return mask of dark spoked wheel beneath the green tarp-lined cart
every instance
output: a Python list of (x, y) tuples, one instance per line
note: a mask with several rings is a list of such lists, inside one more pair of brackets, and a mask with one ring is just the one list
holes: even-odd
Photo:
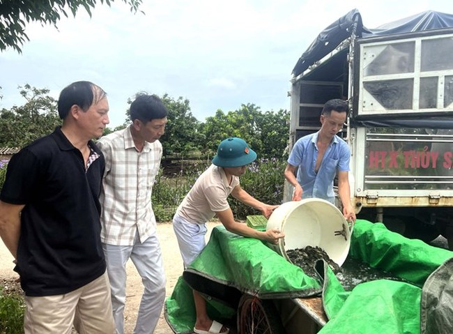
[(238, 307), (238, 333), (284, 334), (286, 332), (272, 301), (243, 294)]

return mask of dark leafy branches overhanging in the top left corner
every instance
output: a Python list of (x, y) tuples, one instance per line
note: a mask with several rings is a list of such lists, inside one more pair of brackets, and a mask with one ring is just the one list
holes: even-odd
[[(115, 0), (100, 0), (100, 3), (110, 3)], [(130, 11), (136, 13), (142, 0), (121, 0), (130, 5)], [(20, 46), (29, 37), (26, 36), (26, 23), (40, 22), (40, 24), (53, 24), (61, 19), (61, 14), (68, 17), (70, 10), (73, 16), (80, 7), (91, 16), (91, 9), (95, 7), (96, 0), (1, 0), (0, 1), (0, 50), (13, 47), (17, 52), (22, 52)]]

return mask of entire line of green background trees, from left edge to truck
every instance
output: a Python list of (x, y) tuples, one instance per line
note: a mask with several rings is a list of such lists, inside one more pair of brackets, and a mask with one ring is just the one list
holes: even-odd
[[(29, 84), (19, 88), (25, 105), (0, 109), (0, 147), (22, 148), (61, 124), (56, 100), (48, 96), (48, 89), (37, 89)], [(128, 103), (133, 99), (130, 98)], [(259, 107), (247, 103), (227, 114), (219, 109), (215, 116), (201, 123), (192, 115), (189, 100), (164, 94), (162, 101), (169, 110), (169, 122), (161, 138), (164, 156), (212, 158), (218, 144), (227, 137), (245, 139), (259, 158), (284, 158), (287, 155), (289, 112), (286, 110), (261, 112)], [(129, 110), (125, 114), (127, 118), (121, 126), (105, 128), (103, 135), (129, 126)]]

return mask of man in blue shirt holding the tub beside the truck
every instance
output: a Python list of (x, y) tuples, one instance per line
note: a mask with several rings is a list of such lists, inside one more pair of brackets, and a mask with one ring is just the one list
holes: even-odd
[(351, 151), (348, 144), (337, 136), (347, 116), (346, 101), (328, 100), (321, 112), (321, 129), (295, 142), (284, 176), (294, 187), (293, 201), (317, 197), (334, 204), (333, 180), (338, 172), (338, 194), (344, 217), (355, 221), (348, 181)]

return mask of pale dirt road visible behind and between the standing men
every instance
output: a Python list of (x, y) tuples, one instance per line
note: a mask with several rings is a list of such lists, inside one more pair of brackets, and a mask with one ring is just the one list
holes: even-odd
[[(208, 234), (206, 234), (206, 241), (210, 236), (210, 231), (213, 227), (219, 225), (219, 222), (208, 222)], [(178, 242), (174, 235), (173, 227), (169, 223), (158, 224), (158, 236), (162, 253), (164, 257), (165, 275), (167, 275), (167, 297), (171, 295), (173, 288), (181, 273), (183, 273), (183, 260), (179, 253)], [(8, 249), (0, 241), (0, 278), (17, 278), (17, 274), (13, 271), (13, 256), (10, 255)], [(125, 306), (125, 333), (132, 333), (137, 319), (137, 310), (140, 304), (141, 292), (143, 286), (141, 285), (140, 276), (135, 270), (132, 261), (128, 261), (128, 282), (126, 288), (126, 306)], [(155, 334), (171, 334), (173, 331), (169, 328), (167, 321), (165, 321), (164, 314), (160, 315), (158, 327)]]

